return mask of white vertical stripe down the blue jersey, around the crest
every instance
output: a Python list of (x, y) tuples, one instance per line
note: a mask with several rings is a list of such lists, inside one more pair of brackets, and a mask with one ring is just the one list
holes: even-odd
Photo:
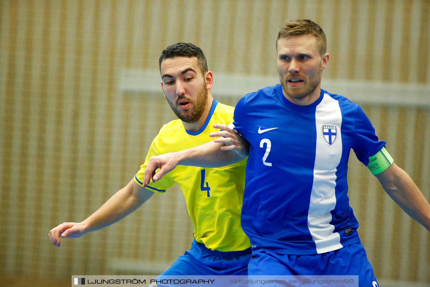
[[(336, 205), (336, 171), (342, 156), (342, 114), (337, 100), (324, 94), (322, 101), (316, 106), (315, 124), (316, 155), (307, 227), (319, 254), (343, 247), (339, 233), (334, 233), (335, 226), (330, 224), (331, 211)], [(336, 126), (336, 138), (332, 145), (324, 139), (324, 125)]]

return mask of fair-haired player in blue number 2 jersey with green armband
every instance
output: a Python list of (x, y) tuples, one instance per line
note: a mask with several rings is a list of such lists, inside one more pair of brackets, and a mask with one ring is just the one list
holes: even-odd
[(241, 216), (252, 244), (249, 275), (359, 275), (360, 287), (377, 287), (347, 197), (351, 148), (427, 230), (430, 206), (362, 109), (320, 88), (330, 57), (322, 28), (287, 20), (276, 49), (280, 84), (240, 99), (230, 127), (214, 125), (221, 131), (213, 142), (152, 158), (144, 184), (177, 164), (215, 167), (249, 155)]

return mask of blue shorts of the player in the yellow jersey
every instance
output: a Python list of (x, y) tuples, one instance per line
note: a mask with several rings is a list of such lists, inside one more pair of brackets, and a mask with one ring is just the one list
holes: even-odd
[(191, 248), (160, 275), (248, 275), (251, 248), (222, 252), (193, 241)]

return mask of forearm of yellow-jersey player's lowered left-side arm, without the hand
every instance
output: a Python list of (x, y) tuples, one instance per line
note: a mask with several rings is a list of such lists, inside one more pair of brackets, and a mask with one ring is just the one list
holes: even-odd
[[(135, 183), (133, 182), (133, 184)], [(146, 201), (145, 198), (138, 196), (135, 188), (129, 185), (117, 191), (98, 210), (82, 222), (85, 225), (86, 233), (120, 221)]]

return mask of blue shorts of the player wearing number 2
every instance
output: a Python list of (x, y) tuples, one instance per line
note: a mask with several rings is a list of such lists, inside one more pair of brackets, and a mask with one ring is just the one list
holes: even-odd
[(249, 275), (358, 275), (359, 287), (378, 287), (363, 245), (314, 255), (278, 254), (260, 251), (252, 254)]

